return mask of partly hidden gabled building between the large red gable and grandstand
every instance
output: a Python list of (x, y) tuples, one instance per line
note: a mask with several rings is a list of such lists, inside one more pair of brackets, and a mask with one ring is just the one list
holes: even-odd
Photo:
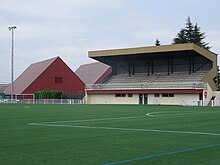
[(111, 73), (111, 67), (101, 62), (95, 62), (81, 65), (75, 73), (85, 84), (95, 84)]

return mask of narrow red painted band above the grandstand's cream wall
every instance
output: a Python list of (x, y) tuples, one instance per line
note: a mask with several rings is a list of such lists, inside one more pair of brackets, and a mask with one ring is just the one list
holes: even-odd
[(156, 93), (174, 93), (174, 94), (200, 94), (202, 89), (146, 89), (146, 90), (92, 90), (86, 91), (87, 94), (156, 94)]

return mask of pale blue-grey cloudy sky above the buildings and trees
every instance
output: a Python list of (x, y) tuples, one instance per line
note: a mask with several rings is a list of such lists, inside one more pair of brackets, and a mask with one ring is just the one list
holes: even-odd
[(156, 38), (170, 44), (188, 16), (219, 54), (219, 0), (0, 0), (0, 83), (11, 81), (8, 26), (17, 26), (17, 78), (30, 64), (56, 56), (75, 71), (94, 62), (89, 50), (152, 46)]

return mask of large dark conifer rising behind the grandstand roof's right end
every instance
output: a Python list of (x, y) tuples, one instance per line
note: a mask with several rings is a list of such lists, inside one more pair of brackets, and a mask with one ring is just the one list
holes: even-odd
[(173, 39), (173, 44), (194, 43), (209, 50), (210, 46), (208, 46), (209, 43), (204, 42), (205, 38), (205, 33), (201, 32), (201, 27), (198, 26), (198, 23), (193, 25), (190, 17), (188, 17), (185, 28), (181, 29), (177, 37)]

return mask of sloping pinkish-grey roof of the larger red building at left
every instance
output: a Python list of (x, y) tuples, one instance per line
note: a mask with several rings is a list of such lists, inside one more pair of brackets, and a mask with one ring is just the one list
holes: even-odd
[[(40, 76), (57, 58), (51, 58), (31, 64), (15, 81), (14, 94), (20, 95), (33, 81)], [(5, 89), (5, 94), (11, 93), (11, 85)]]

